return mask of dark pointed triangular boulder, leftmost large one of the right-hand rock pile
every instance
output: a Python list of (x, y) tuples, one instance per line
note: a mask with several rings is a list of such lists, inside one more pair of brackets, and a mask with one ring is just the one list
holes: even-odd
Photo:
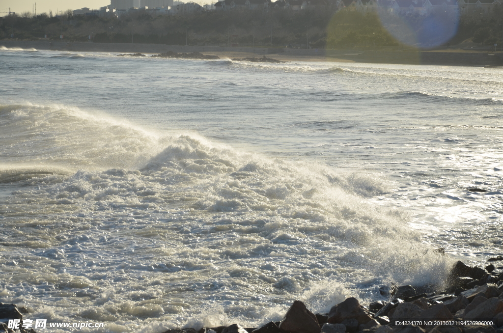
[(279, 328), (292, 333), (319, 333), (321, 327), (316, 316), (301, 301), (294, 301)]

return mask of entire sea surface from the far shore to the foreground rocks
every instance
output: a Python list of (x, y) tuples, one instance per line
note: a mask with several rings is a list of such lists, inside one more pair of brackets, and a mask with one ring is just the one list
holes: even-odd
[(0, 301), (27, 318), (253, 327), (502, 252), (503, 69), (3, 47), (0, 77)]

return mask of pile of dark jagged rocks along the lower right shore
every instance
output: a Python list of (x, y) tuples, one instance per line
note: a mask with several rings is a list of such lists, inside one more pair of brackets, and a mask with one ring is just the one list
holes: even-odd
[(503, 272), (497, 270), (503, 267), (484, 270), (457, 262), (443, 292), (434, 286), (382, 287), (390, 301), (364, 306), (350, 297), (316, 314), (294, 301), (281, 321), (257, 328), (234, 323), (164, 333), (503, 333)]

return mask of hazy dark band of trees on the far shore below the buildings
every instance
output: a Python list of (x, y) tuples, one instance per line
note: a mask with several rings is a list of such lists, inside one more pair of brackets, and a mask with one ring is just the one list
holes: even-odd
[[(427, 29), (432, 25), (452, 31), (441, 39), (438, 31)], [(79, 42), (90, 41), (91, 36), (91, 41), (97, 43), (389, 49), (400, 42), (428, 48), (467, 39), (492, 45), (501, 41), (502, 29), (503, 6), (495, 6), (489, 13), (459, 15), (439, 11), (427, 17), (396, 16), (387, 11), (337, 11), (335, 7), (302, 11), (207, 11), (157, 17), (139, 11), (122, 19), (73, 17), (68, 10), (58, 17), (52, 13), (32, 16), (29, 12), (6, 16), (0, 25), (0, 39), (14, 35), (18, 40), (38, 40), (44, 36), (59, 40), (63, 35), (65, 41)]]

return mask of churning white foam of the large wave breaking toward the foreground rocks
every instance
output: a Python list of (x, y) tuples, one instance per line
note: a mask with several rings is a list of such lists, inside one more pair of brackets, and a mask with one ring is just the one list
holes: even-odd
[[(233, 317), (253, 325), (278, 319), (295, 298), (326, 311), (350, 294), (378, 297), (382, 283), (441, 284), (448, 270), (449, 260), (428, 251), (406, 215), (365, 199), (387, 191), (369, 175), (238, 152), (193, 134), (152, 133), (64, 106), (9, 105), (0, 113), (10, 140), (3, 154), (14, 162), (22, 151), (42, 165), (11, 164), (2, 173), (41, 184), (13, 192), (8, 205), (16, 208), (4, 225), (19, 224), (20, 214), (31, 216), (27, 230), (45, 225), (37, 238), (46, 245), (17, 232), (4, 244), (16, 249), (12, 258), (47, 273), (13, 270), (10, 279), (57, 285), (67, 296), (85, 291), (78, 297), (93, 301), (79, 309), (81, 318), (199, 327)], [(370, 281), (363, 289), (361, 279)], [(277, 298), (281, 305), (264, 308)], [(62, 317), (64, 302), (51, 301)], [(211, 305), (198, 313), (204, 304)]]

